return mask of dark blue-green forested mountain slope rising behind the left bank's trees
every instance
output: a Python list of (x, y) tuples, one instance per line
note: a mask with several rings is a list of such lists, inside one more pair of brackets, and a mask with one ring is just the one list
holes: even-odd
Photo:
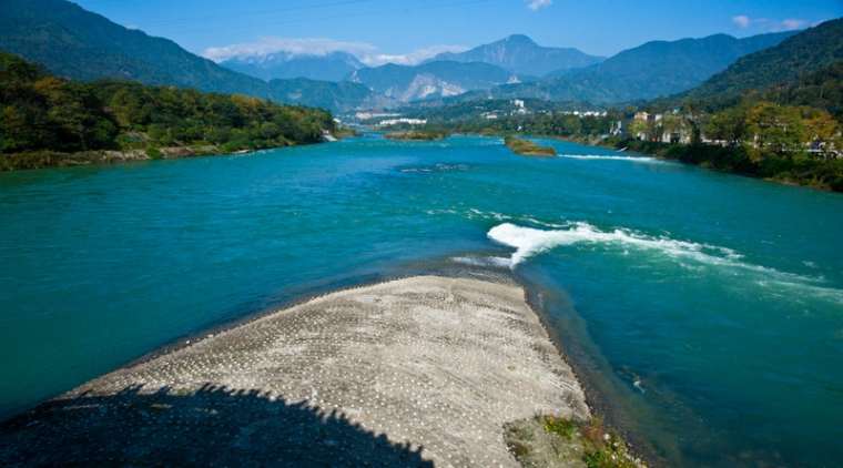
[(116, 79), (343, 111), (383, 105), (356, 83), (270, 82), (217, 65), (175, 42), (124, 28), (65, 0), (0, 1), (0, 50), (73, 80)]

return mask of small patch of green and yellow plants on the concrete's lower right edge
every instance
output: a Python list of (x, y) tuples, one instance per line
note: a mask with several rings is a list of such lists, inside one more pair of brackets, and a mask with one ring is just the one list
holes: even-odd
[(600, 418), (579, 421), (535, 416), (508, 424), (504, 439), (524, 467), (641, 468), (622, 437), (607, 430)]

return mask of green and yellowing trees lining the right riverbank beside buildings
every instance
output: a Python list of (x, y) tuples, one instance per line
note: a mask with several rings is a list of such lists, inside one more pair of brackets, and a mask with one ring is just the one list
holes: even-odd
[[(752, 93), (738, 105), (701, 114), (689, 125), (697, 135), (689, 145), (607, 143), (720, 171), (843, 192), (843, 125), (824, 109), (783, 105), (758, 100)], [(654, 136), (662, 130), (637, 122), (630, 132), (658, 140)], [(715, 144), (701, 143), (700, 134)]]

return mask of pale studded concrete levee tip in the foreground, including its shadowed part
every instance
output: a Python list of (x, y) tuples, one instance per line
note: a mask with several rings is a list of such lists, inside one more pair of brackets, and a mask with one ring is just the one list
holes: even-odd
[(515, 285), (328, 294), (116, 370), (0, 426), (0, 465), (517, 466), (504, 425), (588, 417)]

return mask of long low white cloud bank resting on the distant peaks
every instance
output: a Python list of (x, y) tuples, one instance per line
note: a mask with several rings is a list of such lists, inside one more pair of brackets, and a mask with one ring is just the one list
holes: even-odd
[(408, 53), (390, 54), (366, 42), (337, 41), (325, 38), (262, 38), (255, 42), (231, 44), (205, 49), (204, 57), (222, 62), (235, 57), (264, 57), (271, 53), (287, 52), (293, 55), (325, 55), (331, 52), (348, 52), (360, 62), (377, 67), (384, 63), (414, 65), (441, 52), (461, 52), (463, 45), (431, 45)]

